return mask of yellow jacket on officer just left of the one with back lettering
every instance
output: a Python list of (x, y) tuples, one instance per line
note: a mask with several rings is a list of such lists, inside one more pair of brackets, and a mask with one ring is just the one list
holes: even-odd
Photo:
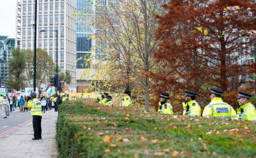
[(183, 102), (183, 116), (201, 116), (201, 107), (195, 100)]

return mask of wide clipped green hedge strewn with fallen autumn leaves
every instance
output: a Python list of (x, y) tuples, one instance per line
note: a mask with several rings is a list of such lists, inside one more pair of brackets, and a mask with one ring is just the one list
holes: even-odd
[(256, 157), (256, 123), (144, 113), (93, 100), (61, 105), (57, 133), (59, 157)]

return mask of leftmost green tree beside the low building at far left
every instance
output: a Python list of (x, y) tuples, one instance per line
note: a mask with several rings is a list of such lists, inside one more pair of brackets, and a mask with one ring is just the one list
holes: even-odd
[(26, 68), (26, 55), (20, 48), (11, 50), (11, 58), (8, 61), (9, 77), (7, 84), (16, 90), (24, 88), (24, 70)]

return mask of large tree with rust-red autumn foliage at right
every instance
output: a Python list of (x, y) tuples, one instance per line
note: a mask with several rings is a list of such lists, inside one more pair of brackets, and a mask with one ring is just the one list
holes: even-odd
[(156, 90), (203, 95), (212, 86), (235, 90), (252, 81), (254, 64), (239, 59), (255, 54), (254, 1), (172, 0), (164, 9), (156, 15), (160, 46), (154, 57), (162, 66), (154, 75)]

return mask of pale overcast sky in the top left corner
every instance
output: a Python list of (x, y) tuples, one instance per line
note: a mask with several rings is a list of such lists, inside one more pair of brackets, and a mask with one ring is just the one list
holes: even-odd
[(0, 0), (0, 35), (15, 38), (16, 0)]

